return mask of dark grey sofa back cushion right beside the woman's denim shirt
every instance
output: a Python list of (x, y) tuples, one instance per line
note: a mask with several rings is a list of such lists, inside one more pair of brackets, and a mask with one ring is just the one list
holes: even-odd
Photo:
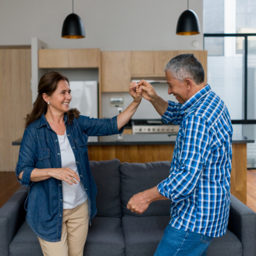
[(90, 161), (92, 176), (97, 186), (97, 215), (121, 217), (120, 161)]

